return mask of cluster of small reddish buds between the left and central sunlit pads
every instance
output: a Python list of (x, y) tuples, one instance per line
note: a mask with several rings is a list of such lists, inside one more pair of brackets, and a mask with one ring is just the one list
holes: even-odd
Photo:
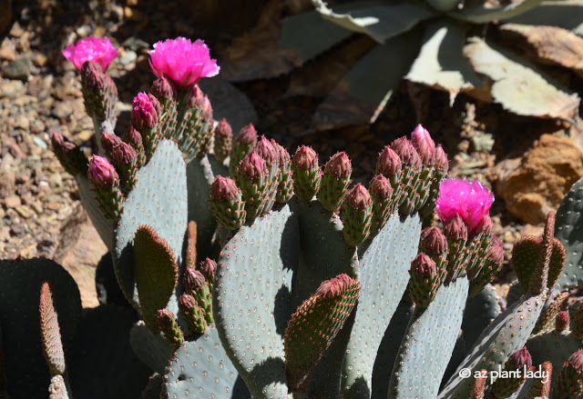
[(210, 258), (197, 269), (187, 267), (184, 273), (184, 291), (179, 298), (179, 310), (192, 334), (202, 334), (212, 318), (212, 283), (217, 264)]

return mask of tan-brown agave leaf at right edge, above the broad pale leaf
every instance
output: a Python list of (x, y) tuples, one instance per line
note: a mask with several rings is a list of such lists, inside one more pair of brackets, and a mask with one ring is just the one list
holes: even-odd
[(583, 38), (556, 26), (505, 24), (503, 33), (519, 35), (534, 49), (537, 62), (561, 65), (583, 76)]

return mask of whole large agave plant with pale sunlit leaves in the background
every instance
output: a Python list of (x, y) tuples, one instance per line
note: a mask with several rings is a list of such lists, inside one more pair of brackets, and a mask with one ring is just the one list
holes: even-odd
[[(533, 36), (538, 33), (540, 39), (537, 29), (543, 25), (551, 44), (581, 40), (583, 1), (522, 0), (497, 7), (461, 0), (334, 2), (332, 7), (322, 0), (312, 3), (315, 11), (282, 21), (279, 45), (295, 50), (294, 65), (311, 61), (354, 33), (377, 43), (368, 52), (361, 45), (363, 55), (352, 69), (332, 92), (322, 93), (326, 98), (312, 117), (314, 128), (373, 123), (403, 78), (447, 92), (451, 104), (456, 95), (467, 93), (517, 115), (567, 121), (578, 115), (578, 95), (509, 50), (517, 43), (540, 47)], [(510, 34), (523, 42), (506, 40)], [(495, 44), (493, 39), (500, 36), (505, 40)], [(574, 66), (565, 63), (565, 56), (538, 53), (544, 64)], [(338, 55), (339, 63), (343, 56)], [(279, 59), (268, 62), (281, 64)], [(280, 64), (257, 70), (281, 74)], [(245, 74), (247, 79), (265, 77)]]

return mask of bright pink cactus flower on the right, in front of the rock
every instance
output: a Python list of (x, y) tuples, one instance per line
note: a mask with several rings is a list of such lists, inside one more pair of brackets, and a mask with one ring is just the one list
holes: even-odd
[(477, 180), (470, 183), (465, 179), (444, 179), (439, 185), (435, 210), (444, 223), (458, 214), (471, 235), (483, 222), (493, 202), (494, 194)]

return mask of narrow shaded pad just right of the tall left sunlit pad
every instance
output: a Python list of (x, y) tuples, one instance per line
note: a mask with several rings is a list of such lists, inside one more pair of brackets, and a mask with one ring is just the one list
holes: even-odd
[[(210, 185), (219, 174), (218, 162), (213, 168), (209, 155), (199, 159), (193, 159), (186, 168), (187, 187), (189, 190), (189, 220), (197, 223), (199, 259), (212, 256), (211, 240), (217, 228), (217, 220), (210, 211)], [(226, 175), (226, 174), (223, 174)]]

